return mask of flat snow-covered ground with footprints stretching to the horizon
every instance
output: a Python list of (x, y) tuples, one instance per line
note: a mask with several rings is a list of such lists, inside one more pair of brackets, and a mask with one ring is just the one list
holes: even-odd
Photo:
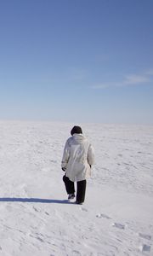
[(153, 255), (153, 126), (81, 124), (96, 164), (82, 206), (60, 169), (73, 125), (0, 121), (0, 255)]

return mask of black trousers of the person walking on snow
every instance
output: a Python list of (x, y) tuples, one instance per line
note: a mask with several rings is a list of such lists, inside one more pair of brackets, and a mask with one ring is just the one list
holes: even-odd
[[(63, 177), (63, 181), (65, 183), (65, 189), (68, 195), (75, 193), (74, 183), (66, 176)], [(77, 201), (83, 202), (85, 199), (86, 193), (86, 179), (77, 182)]]

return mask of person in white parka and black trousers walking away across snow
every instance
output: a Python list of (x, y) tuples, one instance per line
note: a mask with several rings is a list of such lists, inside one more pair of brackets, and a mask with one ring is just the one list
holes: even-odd
[(94, 164), (94, 148), (82, 135), (82, 128), (75, 125), (71, 129), (71, 137), (65, 143), (61, 168), (65, 172), (63, 181), (68, 194), (68, 200), (75, 198), (75, 185), (77, 182), (77, 204), (85, 200), (86, 179), (91, 175)]

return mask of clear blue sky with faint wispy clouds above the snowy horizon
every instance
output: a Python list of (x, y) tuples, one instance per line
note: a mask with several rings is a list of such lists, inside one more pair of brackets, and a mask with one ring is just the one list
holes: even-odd
[(152, 0), (1, 0), (0, 119), (153, 124)]

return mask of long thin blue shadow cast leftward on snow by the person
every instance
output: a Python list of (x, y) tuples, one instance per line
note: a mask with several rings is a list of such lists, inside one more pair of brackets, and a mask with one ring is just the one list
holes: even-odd
[(35, 203), (54, 203), (54, 204), (71, 204), (71, 201), (68, 200), (55, 200), (55, 199), (41, 199), (41, 198), (18, 198), (18, 197), (3, 197), (0, 198), (1, 201), (10, 201), (10, 202), (35, 202)]

